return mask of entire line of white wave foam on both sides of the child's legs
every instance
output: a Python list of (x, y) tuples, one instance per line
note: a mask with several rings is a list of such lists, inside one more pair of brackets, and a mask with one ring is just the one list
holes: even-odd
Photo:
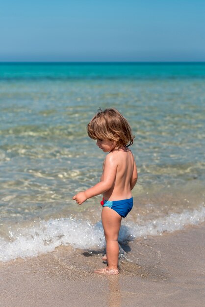
[[(171, 213), (145, 223), (133, 223), (124, 220), (119, 241), (125, 242), (136, 237), (159, 235), (164, 231), (181, 230), (186, 225), (197, 225), (205, 221), (205, 207), (182, 213)], [(38, 256), (53, 251), (60, 245), (72, 245), (75, 248), (103, 248), (105, 245), (103, 226), (99, 222), (91, 225), (88, 221), (75, 219), (51, 219), (36, 222), (34, 226), (10, 231), (10, 241), (0, 238), (0, 261)]]

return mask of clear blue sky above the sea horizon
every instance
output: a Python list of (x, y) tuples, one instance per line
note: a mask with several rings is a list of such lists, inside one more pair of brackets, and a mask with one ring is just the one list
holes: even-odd
[(10, 61), (205, 61), (205, 0), (4, 0)]

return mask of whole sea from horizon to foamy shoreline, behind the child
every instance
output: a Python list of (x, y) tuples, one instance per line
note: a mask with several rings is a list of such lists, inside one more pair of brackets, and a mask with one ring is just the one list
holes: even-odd
[(0, 63), (1, 262), (104, 248), (102, 197), (72, 197), (100, 180), (86, 126), (107, 107), (138, 168), (119, 242), (205, 221), (205, 63)]

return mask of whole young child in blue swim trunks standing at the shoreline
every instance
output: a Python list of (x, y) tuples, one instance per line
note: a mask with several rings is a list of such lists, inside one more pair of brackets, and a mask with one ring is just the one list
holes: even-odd
[(86, 191), (77, 193), (73, 200), (81, 205), (87, 199), (103, 194), (102, 223), (106, 240), (107, 267), (95, 271), (98, 274), (117, 275), (118, 234), (122, 217), (132, 209), (131, 190), (137, 182), (137, 168), (128, 148), (133, 144), (131, 128), (122, 114), (113, 108), (96, 114), (87, 126), (90, 138), (108, 153), (103, 163), (101, 181)]

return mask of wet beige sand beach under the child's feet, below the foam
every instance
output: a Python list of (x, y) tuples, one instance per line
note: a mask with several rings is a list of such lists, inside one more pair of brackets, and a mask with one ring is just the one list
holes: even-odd
[(96, 275), (102, 251), (60, 247), (0, 264), (2, 307), (204, 307), (205, 224), (124, 246), (118, 276)]

